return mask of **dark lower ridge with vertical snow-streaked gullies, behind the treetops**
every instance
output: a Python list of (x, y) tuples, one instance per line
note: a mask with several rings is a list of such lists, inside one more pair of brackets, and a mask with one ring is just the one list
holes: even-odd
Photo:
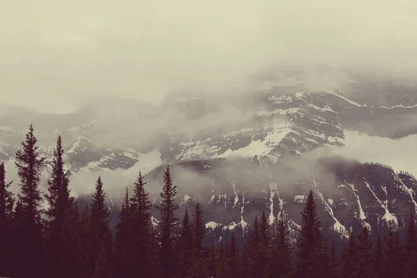
[[(171, 169), (178, 185), (179, 215), (200, 202), (206, 227), (217, 240), (229, 230), (245, 234), (262, 211), (272, 223), (284, 210), (296, 232), (310, 189), (323, 226), (343, 237), (363, 227), (376, 231), (389, 222), (402, 226), (417, 208), (416, 179), (380, 164), (341, 158), (313, 162), (297, 156), (268, 167), (253, 159), (226, 159), (179, 163)], [(161, 188), (163, 170), (158, 167), (147, 175), (148, 188)], [(158, 197), (153, 200), (158, 202)]]

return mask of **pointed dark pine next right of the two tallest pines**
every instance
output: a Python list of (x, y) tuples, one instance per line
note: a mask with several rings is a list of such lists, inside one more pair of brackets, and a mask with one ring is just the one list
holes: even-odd
[[(91, 263), (93, 273), (111, 271), (111, 252), (112, 252), (112, 235), (109, 227), (108, 216), (110, 212), (106, 206), (106, 193), (103, 190), (101, 177), (97, 179), (96, 191), (92, 195), (92, 203), (90, 206), (91, 219), (90, 231), (91, 238)], [(102, 246), (101, 246), (102, 245)], [(106, 267), (105, 269), (97, 269)]]

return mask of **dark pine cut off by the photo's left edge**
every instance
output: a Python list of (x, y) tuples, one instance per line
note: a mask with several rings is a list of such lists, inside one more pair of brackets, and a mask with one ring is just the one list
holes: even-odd
[(6, 170), (4, 163), (0, 164), (0, 276), (10, 276), (10, 254), (12, 254), (10, 244), (12, 237), (12, 216), (13, 204), (15, 202), (13, 193), (8, 190), (12, 182), (6, 183)]

